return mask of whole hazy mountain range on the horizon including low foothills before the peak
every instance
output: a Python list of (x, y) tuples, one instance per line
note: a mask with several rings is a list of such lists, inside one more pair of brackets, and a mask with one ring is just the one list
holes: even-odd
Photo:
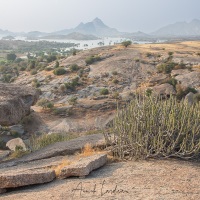
[[(131, 24), (130, 24), (131, 26)], [(134, 27), (134, 24), (132, 24)], [(155, 41), (157, 39), (163, 38), (191, 38), (200, 37), (200, 20), (194, 19), (191, 22), (177, 22), (175, 24), (170, 24), (160, 28), (159, 30), (146, 34), (141, 31), (126, 33), (120, 32), (115, 28), (110, 28), (105, 25), (104, 22), (95, 18), (91, 22), (83, 23), (81, 22), (78, 26), (71, 29), (64, 29), (56, 32), (45, 33), (40, 31), (31, 31), (28, 33), (24, 32), (10, 32), (8, 30), (0, 29), (0, 36), (24, 36), (28, 39), (74, 39), (74, 40), (92, 40), (97, 39), (97, 37), (123, 37), (134, 40), (147, 40)]]

